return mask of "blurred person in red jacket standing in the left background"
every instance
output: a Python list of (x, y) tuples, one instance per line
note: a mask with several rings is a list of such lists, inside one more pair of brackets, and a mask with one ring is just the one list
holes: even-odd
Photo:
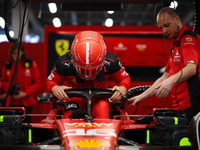
[[(4, 92), (9, 89), (18, 55), (18, 47), (19, 43), (11, 45), (9, 50), (10, 60), (5, 63), (2, 70), (1, 83)], [(26, 113), (31, 114), (32, 106), (37, 104), (34, 94), (40, 87), (41, 77), (37, 64), (34, 60), (27, 58), (24, 47), (21, 45), (17, 71), (4, 105), (6, 107), (25, 107)], [(30, 122), (30, 117), (26, 117), (24, 122)]]

